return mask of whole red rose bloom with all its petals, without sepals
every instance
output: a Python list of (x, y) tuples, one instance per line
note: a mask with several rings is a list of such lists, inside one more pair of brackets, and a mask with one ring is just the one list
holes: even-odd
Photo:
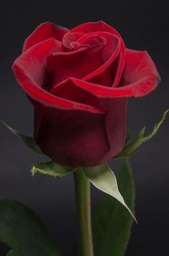
[(68, 166), (95, 166), (122, 151), (127, 98), (147, 95), (160, 76), (148, 52), (125, 48), (104, 22), (72, 30), (41, 24), (13, 65), (34, 104), (34, 138)]

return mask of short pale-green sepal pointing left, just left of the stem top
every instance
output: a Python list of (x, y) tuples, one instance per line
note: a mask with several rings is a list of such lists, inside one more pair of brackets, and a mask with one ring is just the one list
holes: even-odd
[(74, 170), (75, 169), (73, 167), (61, 166), (59, 163), (55, 163), (54, 161), (49, 161), (47, 163), (34, 163), (30, 169), (32, 176), (34, 176), (34, 174), (46, 174), (54, 177), (63, 177)]

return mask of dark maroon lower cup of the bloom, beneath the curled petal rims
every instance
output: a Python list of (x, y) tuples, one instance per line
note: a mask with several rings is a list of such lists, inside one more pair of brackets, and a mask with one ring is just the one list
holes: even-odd
[(122, 151), (126, 98), (101, 100), (105, 115), (39, 107), (34, 134), (42, 151), (67, 166), (97, 166)]

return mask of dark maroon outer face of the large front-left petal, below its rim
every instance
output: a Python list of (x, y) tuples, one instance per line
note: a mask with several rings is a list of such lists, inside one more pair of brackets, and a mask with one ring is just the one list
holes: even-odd
[(97, 165), (109, 151), (105, 115), (46, 108), (36, 129), (37, 144), (42, 151), (62, 165)]

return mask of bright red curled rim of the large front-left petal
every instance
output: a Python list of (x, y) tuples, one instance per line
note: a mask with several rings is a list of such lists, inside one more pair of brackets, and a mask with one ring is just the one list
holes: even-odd
[(26, 65), (26, 61), (29, 61), (29, 56), (34, 56), (34, 54), (32, 54), (32, 51), (36, 51), (37, 57), (42, 58), (44, 54), (43, 52), (44, 44), (46, 46), (45, 54), (47, 54), (47, 51), (49, 49), (51, 49), (52, 47), (53, 48), (55, 47), (54, 45), (55, 41), (56, 40), (54, 39), (47, 39), (44, 42), (36, 44), (34, 47), (31, 47), (28, 50), (26, 50), (26, 52), (21, 54), (15, 60), (14, 65), (12, 66), (12, 69), (14, 70), (14, 73), (16, 75), (16, 80), (17, 82), (19, 82), (19, 85), (21, 85), (24, 92), (27, 95), (29, 95), (30, 98), (34, 99), (39, 103), (42, 103), (42, 105), (49, 106), (51, 108), (60, 108), (65, 110), (84, 110), (91, 113), (105, 114), (102, 110), (92, 107), (90, 105), (84, 105), (81, 103), (73, 102), (71, 100), (65, 100), (48, 93), (42, 87), (37, 85), (37, 82), (34, 81), (30, 76), (31, 74), (29, 74), (29, 72), (24, 69), (25, 67), (24, 65)]

